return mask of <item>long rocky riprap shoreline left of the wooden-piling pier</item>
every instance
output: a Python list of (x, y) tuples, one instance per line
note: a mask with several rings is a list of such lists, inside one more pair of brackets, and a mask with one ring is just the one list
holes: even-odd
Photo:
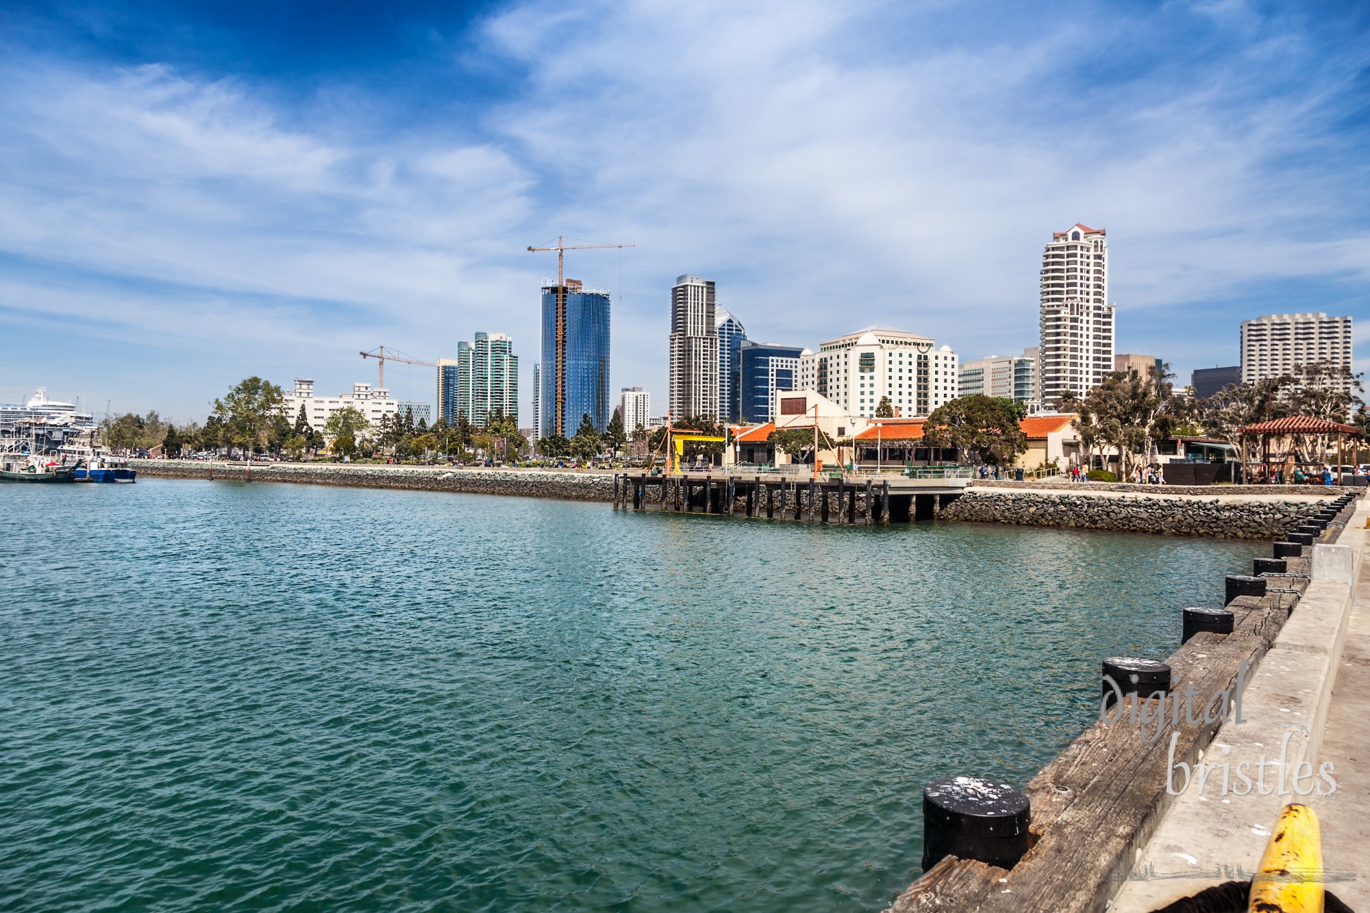
[[(140, 459), (144, 476), (210, 478), (211, 463), (189, 459)], [(212, 463), (214, 478), (245, 481), (244, 463)], [(518, 495), (563, 500), (614, 499), (614, 477), (599, 473), (540, 472), (533, 469), (456, 469), (452, 466), (367, 466), (359, 463), (253, 463), (252, 481), (344, 485), (348, 488), (406, 488), (467, 495)]]

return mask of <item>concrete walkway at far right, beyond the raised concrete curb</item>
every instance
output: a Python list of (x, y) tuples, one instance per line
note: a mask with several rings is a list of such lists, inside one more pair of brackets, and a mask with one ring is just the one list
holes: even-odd
[(1328, 887), (1355, 910), (1370, 910), (1370, 561), (1360, 566), (1351, 626), (1322, 735), (1322, 759), (1337, 790), (1311, 805), (1322, 824), (1323, 865), (1354, 881)]

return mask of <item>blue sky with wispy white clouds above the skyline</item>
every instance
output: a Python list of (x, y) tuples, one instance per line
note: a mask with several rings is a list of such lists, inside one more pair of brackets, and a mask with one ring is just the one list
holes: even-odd
[[(1370, 5), (49, 3), (0, 10), (0, 400), (204, 418), (260, 374), (514, 336), (558, 234), (612, 289), (612, 384), (666, 404), (670, 285), (759, 341), (1037, 340), (1054, 230), (1108, 230), (1119, 351), (1237, 361), (1356, 318)], [(389, 367), (389, 366), (388, 366)], [(400, 398), (430, 369), (393, 366)], [(529, 421), (525, 415), (525, 424)]]

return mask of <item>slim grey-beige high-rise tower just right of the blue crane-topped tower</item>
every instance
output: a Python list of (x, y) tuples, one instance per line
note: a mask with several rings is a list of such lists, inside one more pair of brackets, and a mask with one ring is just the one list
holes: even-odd
[(718, 415), (718, 322), (714, 282), (681, 276), (671, 288), (670, 410), (674, 418)]

